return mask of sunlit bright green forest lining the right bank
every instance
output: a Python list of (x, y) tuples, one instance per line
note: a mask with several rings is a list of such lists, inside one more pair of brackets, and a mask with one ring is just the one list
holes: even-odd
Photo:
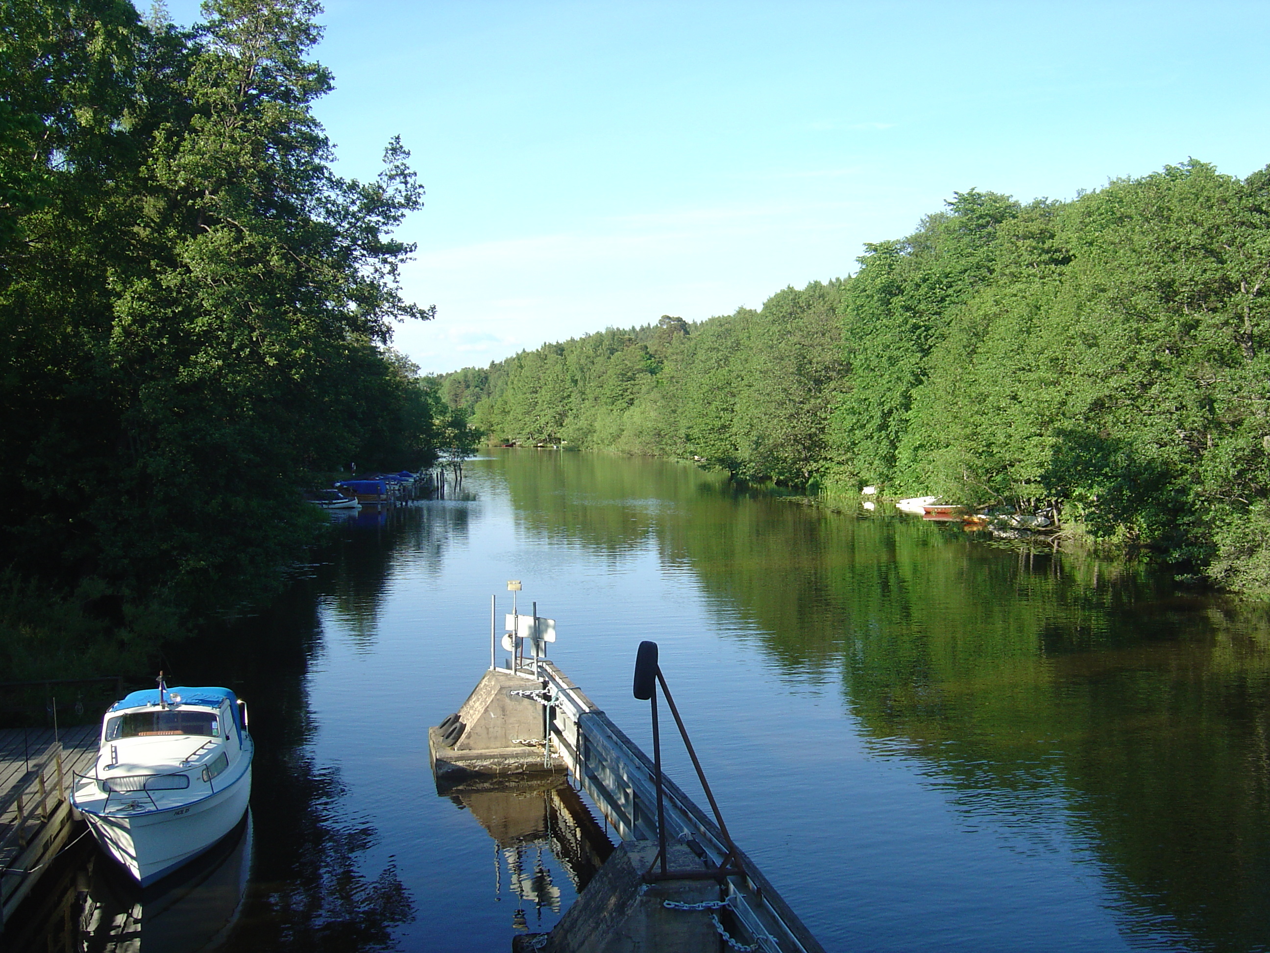
[(495, 442), (859, 497), (1053, 507), (1069, 545), (1270, 597), (1270, 170), (955, 193), (846, 278), (444, 375)]

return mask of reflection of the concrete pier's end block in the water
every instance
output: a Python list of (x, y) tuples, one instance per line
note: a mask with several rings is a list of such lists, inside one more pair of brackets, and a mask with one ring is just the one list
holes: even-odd
[[(514, 897), (512, 928), (541, 929), (544, 915), (554, 920), (572, 896), (582, 893), (608, 859), (613, 846), (589, 808), (560, 776), (508, 783), (467, 783), (441, 792), (471, 812), (494, 841), (494, 893)], [(568, 884), (551, 877), (551, 860), (564, 869)], [(536, 914), (530, 924), (528, 911)]]

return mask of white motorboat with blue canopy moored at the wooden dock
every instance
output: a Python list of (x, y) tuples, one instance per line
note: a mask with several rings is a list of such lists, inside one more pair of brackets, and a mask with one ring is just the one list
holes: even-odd
[(71, 803), (142, 887), (232, 831), (251, 794), (246, 705), (229, 689), (133, 691), (102, 720), (90, 775)]

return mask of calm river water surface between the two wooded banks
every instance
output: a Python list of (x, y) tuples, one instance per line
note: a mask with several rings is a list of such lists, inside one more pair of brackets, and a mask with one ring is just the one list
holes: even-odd
[(507, 579), (641, 743), (660, 644), (735, 840), (831, 950), (1270, 948), (1262, 612), (653, 460), (503, 452), (362, 522), (168, 659), (237, 689), (259, 751), (243, 901), (189, 949), (507, 950), (568, 909), (541, 802), (500, 849), (428, 771)]

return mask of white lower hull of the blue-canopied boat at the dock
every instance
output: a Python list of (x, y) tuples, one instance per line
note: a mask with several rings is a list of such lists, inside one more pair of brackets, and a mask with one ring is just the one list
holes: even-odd
[(193, 860), (232, 831), (251, 797), (251, 766), (229, 787), (185, 807), (144, 814), (85, 813), (93, 836), (142, 887)]

